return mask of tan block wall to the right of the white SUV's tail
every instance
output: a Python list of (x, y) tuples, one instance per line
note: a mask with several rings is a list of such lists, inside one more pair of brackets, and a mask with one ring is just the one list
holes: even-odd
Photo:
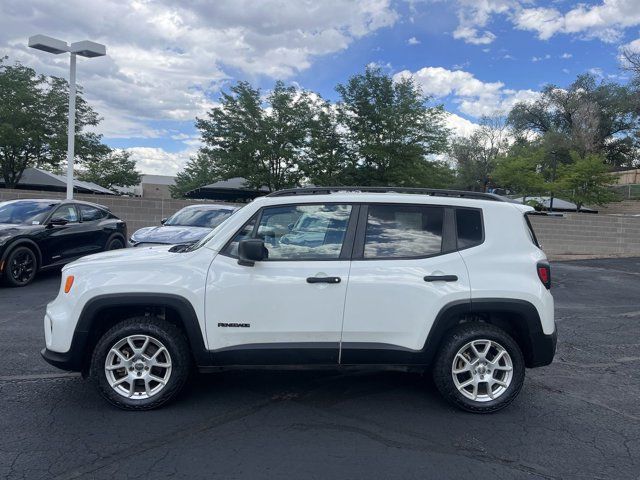
[(640, 256), (640, 217), (569, 213), (530, 218), (549, 256)]

